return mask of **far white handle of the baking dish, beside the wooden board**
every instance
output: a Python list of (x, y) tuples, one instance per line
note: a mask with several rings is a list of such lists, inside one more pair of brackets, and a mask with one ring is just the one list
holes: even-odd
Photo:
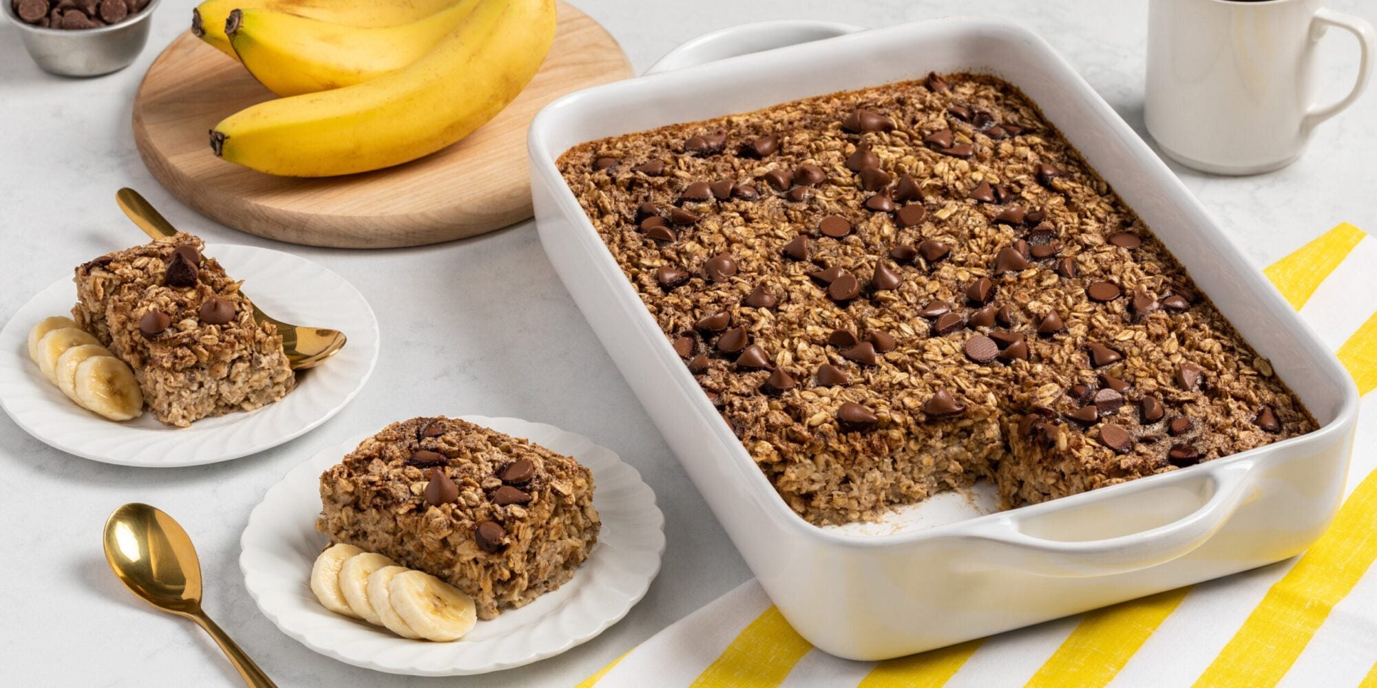
[(646, 70), (658, 74), (708, 62), (748, 55), (766, 50), (782, 48), (799, 43), (832, 39), (862, 28), (852, 23), (819, 22), (811, 19), (777, 19), (728, 26), (704, 33), (697, 39), (680, 43)]

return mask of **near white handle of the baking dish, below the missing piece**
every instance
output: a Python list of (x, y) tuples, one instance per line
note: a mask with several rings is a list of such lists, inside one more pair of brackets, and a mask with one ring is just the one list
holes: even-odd
[[(1213, 537), (1242, 506), (1253, 462), (1237, 461), (1206, 473), (1210, 495), (1194, 512), (1165, 526), (1106, 539), (1056, 541), (1024, 533), (1018, 510), (991, 519), (971, 534), (1004, 545), (1008, 568), (1058, 578), (1089, 578), (1140, 571), (1188, 555)], [(1036, 519), (1037, 516), (1033, 516)]]

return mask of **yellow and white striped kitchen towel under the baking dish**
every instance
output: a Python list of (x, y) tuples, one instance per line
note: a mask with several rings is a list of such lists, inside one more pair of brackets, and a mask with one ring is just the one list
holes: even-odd
[(887, 662), (814, 649), (750, 581), (578, 684), (1377, 688), (1377, 239), (1340, 224), (1265, 270), (1363, 394), (1348, 495), (1300, 557)]

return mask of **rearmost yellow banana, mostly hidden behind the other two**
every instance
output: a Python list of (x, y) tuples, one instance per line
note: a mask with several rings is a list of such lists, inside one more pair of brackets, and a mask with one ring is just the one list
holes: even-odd
[(233, 10), (277, 10), (346, 26), (398, 26), (452, 4), (454, 0), (205, 0), (191, 10), (191, 33), (238, 59), (224, 36), (224, 21)]

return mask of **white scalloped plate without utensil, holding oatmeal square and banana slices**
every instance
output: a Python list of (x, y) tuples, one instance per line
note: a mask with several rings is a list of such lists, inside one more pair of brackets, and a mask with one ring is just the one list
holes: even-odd
[(454, 643), (406, 640), (333, 614), (311, 593), (311, 563), (326, 545), (315, 531), (319, 476), (368, 435), (322, 449), (269, 488), (240, 539), (244, 586), (282, 633), (340, 662), (412, 676), (481, 674), (555, 656), (621, 621), (660, 572), (665, 517), (635, 468), (582, 435), (519, 418), (463, 416), (578, 460), (593, 472), (598, 545), (574, 578), (538, 600), (479, 621)]

